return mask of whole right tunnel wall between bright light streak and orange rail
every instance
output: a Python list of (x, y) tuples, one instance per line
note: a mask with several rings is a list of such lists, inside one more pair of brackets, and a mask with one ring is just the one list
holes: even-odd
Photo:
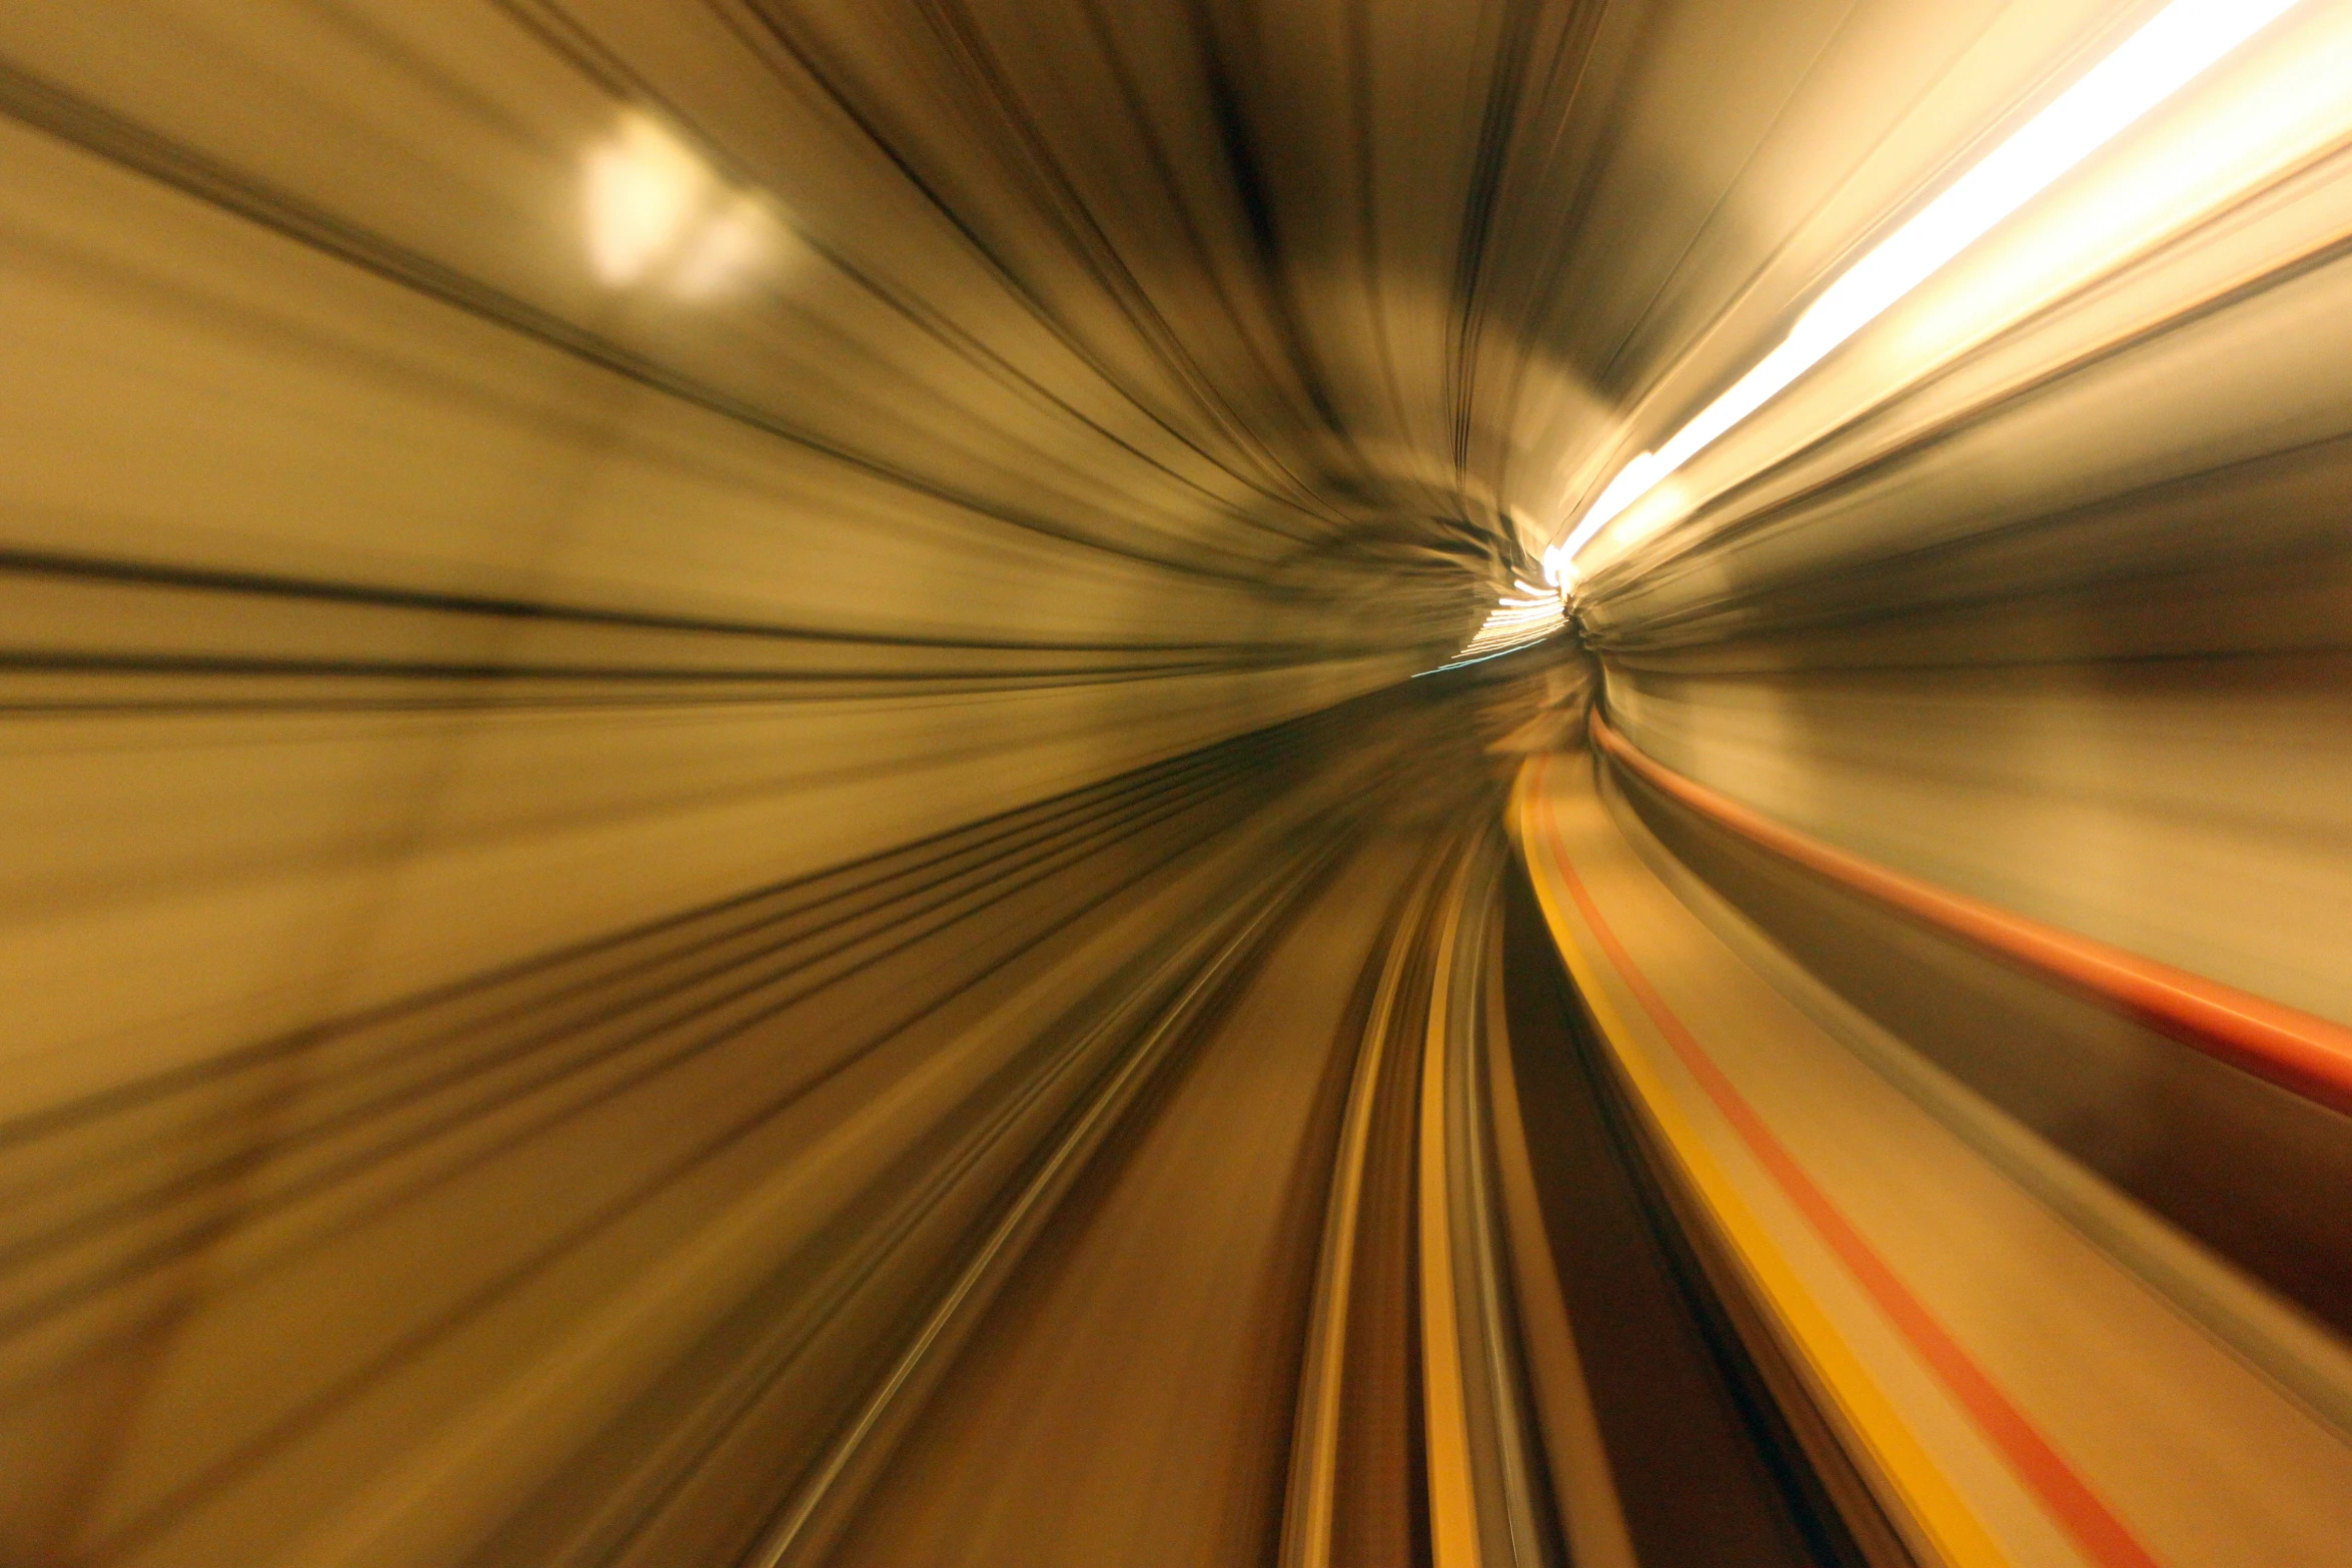
[(2352, 1018), (2338, 165), (1632, 545), (1585, 607), (1628, 731), (1865, 856)]

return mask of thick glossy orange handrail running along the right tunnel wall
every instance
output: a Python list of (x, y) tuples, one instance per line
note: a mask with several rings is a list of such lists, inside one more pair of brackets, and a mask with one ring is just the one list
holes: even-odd
[(2185, 1046), (2270, 1079), (2307, 1100), (2352, 1114), (2352, 1030), (2265, 997), (2143, 959), (2074, 931), (2044, 926), (1750, 811), (1642, 752), (1592, 710), (1592, 741), (1628, 769), (1703, 816), (1785, 860), (1842, 882), (1922, 924), (2089, 994)]

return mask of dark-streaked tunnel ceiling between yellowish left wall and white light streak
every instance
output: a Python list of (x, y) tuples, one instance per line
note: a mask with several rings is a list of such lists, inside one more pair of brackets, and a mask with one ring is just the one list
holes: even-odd
[(1421, 630), (1465, 576), (1534, 576), (1611, 463), (2129, 19), (753, 7), (729, 31), (786, 136), (654, 28), (600, 42), (823, 249), (1105, 409), (1033, 440), (1150, 496), (1145, 536)]

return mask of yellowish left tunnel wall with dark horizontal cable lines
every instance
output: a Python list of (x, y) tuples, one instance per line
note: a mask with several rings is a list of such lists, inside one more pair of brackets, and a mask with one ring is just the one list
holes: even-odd
[(790, 190), (680, 299), (593, 273), (642, 82), (548, 19), (7, 26), (19, 1107), (1329, 705), (1468, 614), (776, 38), (607, 45), (743, 160), (654, 179)]

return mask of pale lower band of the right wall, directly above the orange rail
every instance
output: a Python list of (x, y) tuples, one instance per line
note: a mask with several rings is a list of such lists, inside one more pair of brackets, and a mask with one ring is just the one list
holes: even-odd
[(2352, 1018), (2333, 658), (1613, 672), (1642, 745), (1863, 856)]

